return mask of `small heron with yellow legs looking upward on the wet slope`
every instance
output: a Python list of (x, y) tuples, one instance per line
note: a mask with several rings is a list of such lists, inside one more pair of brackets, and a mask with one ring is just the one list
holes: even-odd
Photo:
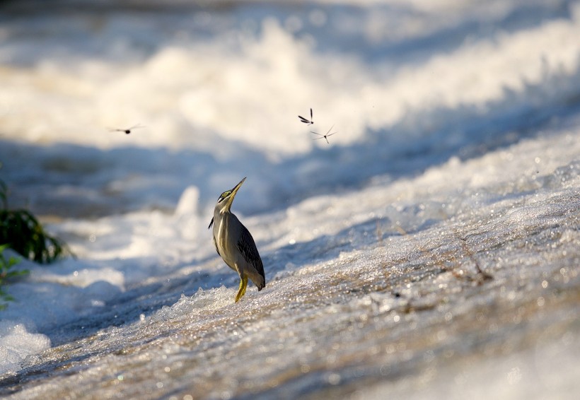
[(257, 286), (258, 291), (266, 286), (264, 264), (262, 264), (260, 253), (257, 252), (254, 238), (248, 228), (245, 228), (238, 217), (231, 212), (233, 198), (244, 181), (245, 178), (233, 189), (226, 190), (219, 196), (214, 208), (214, 216), (207, 227), (209, 229), (211, 225), (214, 226), (213, 242), (218, 255), (240, 276), (240, 288), (236, 293), (235, 302), (240, 301), (245, 294), (248, 278)]

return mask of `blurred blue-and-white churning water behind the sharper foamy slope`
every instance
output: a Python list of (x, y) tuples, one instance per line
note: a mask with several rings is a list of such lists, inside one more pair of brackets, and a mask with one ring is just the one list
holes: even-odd
[(2, 1), (0, 176), (56, 218), (390, 182), (576, 124), (579, 33), (565, 0)]

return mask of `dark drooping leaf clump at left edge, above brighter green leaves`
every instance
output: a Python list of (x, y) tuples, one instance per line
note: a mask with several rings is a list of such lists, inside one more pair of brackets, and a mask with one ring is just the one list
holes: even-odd
[(8, 209), (6, 192), (6, 184), (0, 180), (0, 243), (41, 264), (64, 256), (64, 244), (46, 233), (32, 213), (23, 209)]

